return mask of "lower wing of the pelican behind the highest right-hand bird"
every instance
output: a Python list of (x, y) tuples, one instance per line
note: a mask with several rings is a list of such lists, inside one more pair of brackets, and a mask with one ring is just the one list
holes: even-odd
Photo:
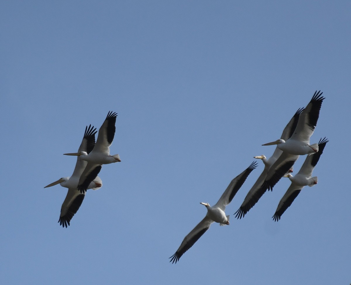
[(265, 168), (261, 175), (257, 178), (255, 184), (253, 184), (252, 188), (247, 193), (243, 204), (241, 204), (240, 208), (234, 213), (235, 217), (241, 219), (246, 215), (246, 213), (258, 202), (258, 200), (265, 194), (267, 188), (262, 186), (266, 176), (267, 176), (268, 168)]

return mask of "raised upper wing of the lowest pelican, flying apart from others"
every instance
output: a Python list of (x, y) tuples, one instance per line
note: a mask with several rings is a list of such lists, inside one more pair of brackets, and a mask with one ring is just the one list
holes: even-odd
[(235, 177), (228, 185), (227, 189), (224, 191), (222, 196), (219, 198), (216, 205), (213, 207), (219, 207), (223, 211), (225, 210), (225, 206), (232, 202), (233, 197), (239, 191), (240, 187), (244, 184), (246, 178), (249, 176), (252, 170), (257, 167), (257, 162), (254, 161), (250, 164), (248, 168), (246, 168), (243, 172), (241, 172), (237, 177)]

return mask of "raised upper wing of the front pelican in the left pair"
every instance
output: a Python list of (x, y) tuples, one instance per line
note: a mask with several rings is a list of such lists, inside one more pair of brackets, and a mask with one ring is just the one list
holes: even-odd
[(102, 123), (99, 129), (94, 151), (110, 154), (110, 145), (112, 144), (116, 131), (116, 117), (117, 113), (113, 113), (112, 111), (108, 112), (104, 123)]

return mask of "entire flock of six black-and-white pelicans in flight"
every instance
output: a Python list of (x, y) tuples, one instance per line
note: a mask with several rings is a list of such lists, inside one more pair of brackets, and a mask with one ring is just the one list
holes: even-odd
[[(316, 128), (319, 111), (325, 99), (322, 94), (323, 92), (316, 91), (306, 108), (300, 108), (296, 111), (284, 128), (280, 139), (263, 144), (277, 145), (270, 158), (267, 159), (265, 155), (254, 156), (254, 158), (263, 161), (264, 170), (247, 193), (240, 208), (234, 213), (236, 218), (243, 218), (267, 190), (273, 190), (273, 187), (282, 177), (288, 177), (291, 185), (278, 204), (277, 210), (272, 217), (274, 221), (280, 220), (283, 213), (291, 206), (304, 186), (311, 187), (317, 184), (318, 178), (316, 176), (312, 177), (312, 172), (328, 140), (321, 138), (319, 143), (310, 144), (310, 137)], [(108, 112), (104, 123), (99, 129), (96, 143), (96, 128), (91, 125), (87, 126), (78, 152), (65, 154), (77, 156), (77, 163), (72, 176), (62, 177), (45, 186), (46, 188), (60, 184), (68, 188), (59, 218), (59, 223), (62, 227), (67, 228), (69, 226), (72, 217), (77, 213), (83, 202), (86, 191), (88, 189), (97, 190), (101, 188), (102, 181), (98, 174), (102, 164), (121, 161), (118, 154), (110, 155), (110, 146), (115, 134), (116, 117), (117, 113)], [(300, 155), (307, 155), (307, 157), (299, 172), (292, 176), (293, 164)], [(185, 236), (178, 250), (170, 257), (170, 262), (177, 263), (180, 257), (210, 228), (212, 223), (216, 222), (221, 226), (229, 225), (230, 216), (226, 215), (225, 208), (257, 165), (257, 162), (251, 163), (248, 168), (235, 177), (218, 202), (212, 207), (208, 203), (200, 203), (207, 209), (206, 216)]]

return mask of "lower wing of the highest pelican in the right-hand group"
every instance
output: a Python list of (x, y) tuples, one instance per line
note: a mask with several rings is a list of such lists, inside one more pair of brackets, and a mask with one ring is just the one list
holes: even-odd
[(298, 158), (298, 155), (291, 155), (284, 151), (269, 168), (263, 186), (268, 190), (273, 190), (274, 185), (289, 171)]

